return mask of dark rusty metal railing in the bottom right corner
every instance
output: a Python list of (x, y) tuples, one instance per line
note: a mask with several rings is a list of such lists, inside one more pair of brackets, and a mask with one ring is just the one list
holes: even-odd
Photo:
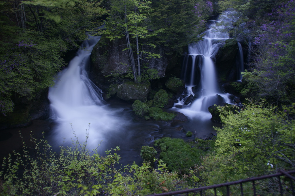
[(295, 196), (295, 190), (294, 190), (294, 182), (295, 182), (295, 177), (292, 176), (291, 174), (294, 174), (294, 171), (289, 171), (285, 172), (283, 170), (279, 170), (279, 173), (276, 174), (271, 174), (271, 175), (265, 175), (265, 176), (260, 176), (260, 177), (252, 177), (248, 179), (242, 179), (234, 182), (226, 182), (218, 185), (211, 185), (211, 186), (206, 186), (206, 187), (199, 187), (199, 188), (194, 188), (194, 189), (187, 189), (187, 190), (179, 190), (179, 191), (173, 191), (173, 192), (165, 192), (165, 193), (160, 193), (160, 194), (153, 194), (153, 195), (147, 195), (147, 196), (168, 196), (168, 195), (191, 195), (189, 193), (194, 193), (195, 195), (200, 195), (200, 196), (205, 196), (204, 191), (205, 190), (214, 190), (214, 195), (217, 196), (217, 188), (220, 187), (226, 187), (226, 195), (230, 196), (230, 186), (231, 185), (239, 185), (240, 184), (240, 193), (241, 196), (244, 196), (244, 190), (243, 190), (243, 184), (246, 182), (252, 182), (252, 190), (253, 190), (253, 195), (258, 196), (256, 192), (256, 183), (258, 180), (262, 179), (269, 179), (269, 178), (275, 178), (278, 177), (278, 186), (279, 186), (279, 195), (283, 196), (284, 190), (281, 182), (280, 176), (285, 176), (290, 179), (290, 191), (289, 194), (292, 194)]

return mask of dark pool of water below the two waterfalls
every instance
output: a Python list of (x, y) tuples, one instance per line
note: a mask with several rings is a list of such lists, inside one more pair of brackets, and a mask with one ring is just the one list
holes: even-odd
[[(102, 141), (101, 146), (98, 147), (98, 152), (104, 155), (106, 149), (120, 146), (119, 154), (122, 159), (120, 164), (132, 164), (134, 161), (137, 164), (142, 162), (140, 157), (140, 149), (144, 145), (152, 146), (154, 141), (162, 137), (194, 139), (195, 134), (198, 138), (206, 138), (210, 133), (216, 133), (212, 126), (219, 126), (209, 121), (202, 119), (190, 119), (186, 123), (176, 123), (167, 121), (154, 121), (136, 118), (130, 109), (131, 103), (126, 103), (117, 99), (113, 99), (109, 103), (110, 108), (119, 110), (118, 116), (124, 117), (129, 123), (122, 125), (122, 129), (104, 133), (105, 140)], [(171, 111), (173, 109), (170, 109)], [(42, 132), (45, 132), (45, 137), (49, 144), (53, 146), (55, 151), (58, 151), (60, 140), (55, 140), (55, 126), (56, 123), (52, 120), (34, 120), (32, 124), (27, 127), (6, 129), (0, 131), (0, 158), (7, 157), (12, 151), (20, 151), (22, 147), (22, 140), (19, 136), (19, 131), (24, 137), (24, 141), (30, 145), (30, 134), (34, 134), (36, 138), (42, 137)], [(88, 125), (85, 125), (87, 128)], [(71, 125), (69, 124), (69, 127)], [(90, 125), (91, 129), (91, 125)], [(191, 131), (192, 137), (186, 137), (186, 132)], [(86, 134), (85, 134), (86, 136)], [(91, 137), (91, 135), (89, 135)], [(74, 138), (74, 135), (71, 136)], [(80, 139), (79, 139), (80, 140)], [(81, 139), (83, 143), (83, 139)], [(100, 142), (99, 142), (100, 143)], [(97, 143), (97, 145), (99, 144)], [(97, 146), (96, 145), (96, 146)]]

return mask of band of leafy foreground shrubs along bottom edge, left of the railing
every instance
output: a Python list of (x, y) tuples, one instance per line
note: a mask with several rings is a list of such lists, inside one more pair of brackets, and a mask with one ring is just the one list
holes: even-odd
[(102, 157), (96, 150), (86, 149), (87, 139), (83, 144), (73, 141), (73, 146), (61, 146), (59, 153), (54, 153), (44, 139), (31, 138), (31, 141), (33, 156), (23, 142), (22, 154), (14, 153), (16, 159), (12, 155), (4, 159), (0, 172), (1, 196), (148, 195), (189, 186), (185, 182), (189, 176), (180, 179), (161, 160), (157, 170), (146, 162), (142, 166), (133, 163), (115, 169), (120, 159), (118, 146)]

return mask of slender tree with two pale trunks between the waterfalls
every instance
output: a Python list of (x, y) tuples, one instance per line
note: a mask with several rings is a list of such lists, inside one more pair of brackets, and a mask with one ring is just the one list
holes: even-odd
[[(130, 65), (132, 68), (134, 80), (141, 78), (142, 55), (147, 58), (160, 57), (158, 54), (141, 50), (140, 40), (155, 36), (162, 29), (157, 31), (149, 31), (146, 25), (148, 16), (152, 9), (151, 1), (148, 0), (112, 0), (109, 1), (110, 16), (106, 20), (106, 37), (111, 41), (113, 39), (126, 39), (126, 50), (128, 51)], [(135, 43), (135, 46), (134, 46)], [(155, 47), (154, 44), (145, 42), (146, 45)], [(134, 57), (134, 49), (136, 50), (136, 58)], [(137, 69), (136, 69), (137, 65)]]

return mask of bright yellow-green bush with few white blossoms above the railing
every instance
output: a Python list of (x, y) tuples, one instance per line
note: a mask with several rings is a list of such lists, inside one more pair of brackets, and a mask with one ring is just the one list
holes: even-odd
[(222, 107), (220, 112), (215, 153), (204, 161), (210, 184), (294, 168), (294, 104), (278, 111), (250, 102), (238, 113)]

